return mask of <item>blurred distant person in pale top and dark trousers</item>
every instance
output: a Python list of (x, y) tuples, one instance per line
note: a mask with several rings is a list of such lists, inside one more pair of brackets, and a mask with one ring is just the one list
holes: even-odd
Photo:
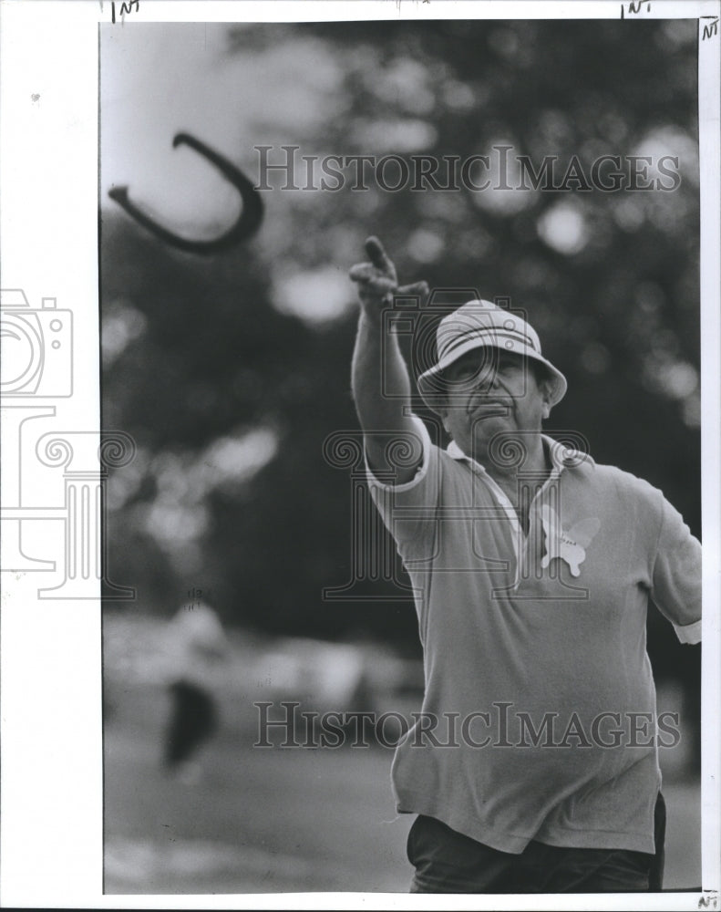
[(170, 717), (163, 763), (181, 782), (201, 779), (198, 751), (218, 729), (218, 700), (229, 655), (221, 621), (201, 602), (183, 606), (168, 624), (166, 639)]

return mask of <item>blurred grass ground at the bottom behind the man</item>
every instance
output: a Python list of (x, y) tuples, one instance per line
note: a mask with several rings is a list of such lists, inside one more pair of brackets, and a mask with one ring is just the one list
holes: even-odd
[[(107, 686), (105, 889), (115, 894), (407, 892), (410, 815), (395, 813), (392, 751), (252, 748), (225, 707), (201, 778), (160, 765), (159, 684)], [(696, 784), (664, 786), (666, 888), (700, 883)]]

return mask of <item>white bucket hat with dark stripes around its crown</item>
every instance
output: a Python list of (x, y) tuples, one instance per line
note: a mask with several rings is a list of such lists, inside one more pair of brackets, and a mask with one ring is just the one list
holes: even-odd
[(443, 371), (474, 348), (500, 348), (540, 361), (549, 372), (551, 406), (566, 394), (566, 378), (541, 355), (541, 340), (535, 329), (520, 316), (490, 301), (469, 301), (444, 316), (438, 324), (436, 344), (438, 363), (418, 378), (418, 390), (428, 408), (435, 412), (445, 401)]

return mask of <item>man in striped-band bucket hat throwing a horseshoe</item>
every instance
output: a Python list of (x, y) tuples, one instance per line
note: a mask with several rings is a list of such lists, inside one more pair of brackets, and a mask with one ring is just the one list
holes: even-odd
[(700, 544), (662, 492), (542, 432), (566, 379), (488, 301), (438, 325), (418, 389), (450, 443), (431, 443), (382, 318), (427, 286), (399, 288), (376, 238), (366, 254), (350, 271), (355, 407), (424, 649), (392, 772), (398, 811), (417, 814), (411, 892), (661, 889), (657, 751), (677, 732), (657, 716), (646, 611), (700, 640)]

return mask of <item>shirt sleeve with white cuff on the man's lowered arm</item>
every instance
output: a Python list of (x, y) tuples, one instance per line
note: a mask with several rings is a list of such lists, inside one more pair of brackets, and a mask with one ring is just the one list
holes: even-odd
[(664, 497), (651, 596), (682, 643), (701, 642), (701, 544)]

